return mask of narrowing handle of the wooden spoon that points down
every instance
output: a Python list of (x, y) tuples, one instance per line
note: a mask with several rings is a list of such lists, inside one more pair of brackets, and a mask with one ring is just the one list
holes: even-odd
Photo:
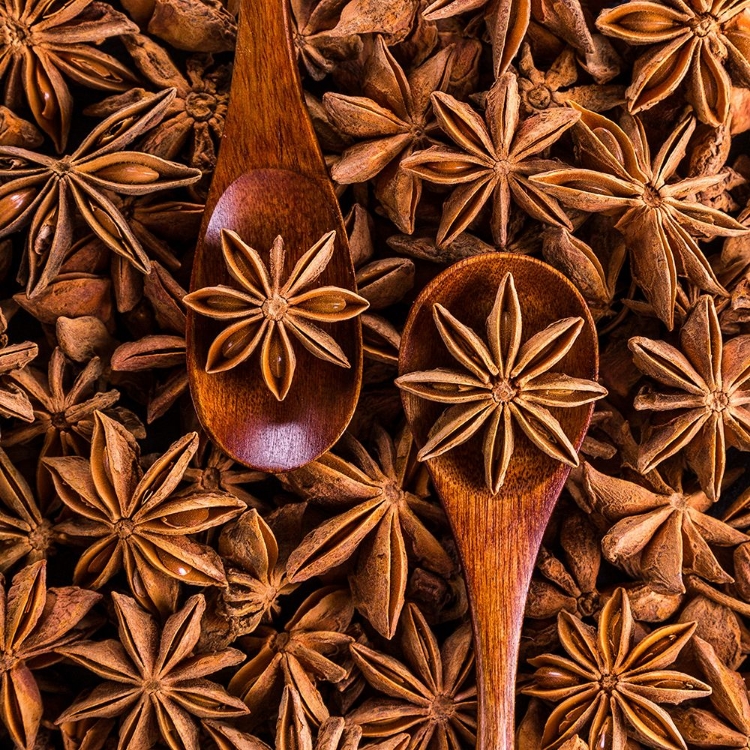
[[(542, 497), (559, 494), (567, 474), (567, 467), (561, 466), (540, 488), (538, 507), (504, 491), (489, 503), (473, 497), (452, 501), (449, 492), (442, 494), (452, 524), (463, 531), (454, 536), (474, 621), (480, 750), (513, 748), (516, 669), (526, 594), (553, 506)], [(467, 534), (466, 529), (486, 529), (489, 538)], [(493, 537), (502, 544), (493, 543)]]

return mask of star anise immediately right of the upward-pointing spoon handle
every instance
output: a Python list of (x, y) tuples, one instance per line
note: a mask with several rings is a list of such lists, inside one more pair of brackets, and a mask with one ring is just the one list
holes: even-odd
[(430, 95), (449, 84), (451, 55), (440, 50), (407, 76), (379, 36), (364, 67), (363, 96), (323, 96), (332, 122), (358, 141), (334, 163), (331, 176), (344, 185), (374, 180), (386, 216), (407, 234), (414, 231), (422, 181), (401, 167), (415, 150), (436, 142)]

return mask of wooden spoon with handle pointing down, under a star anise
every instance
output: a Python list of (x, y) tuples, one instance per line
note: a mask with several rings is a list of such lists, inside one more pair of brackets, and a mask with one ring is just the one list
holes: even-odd
[[(518, 291), (524, 340), (554, 321), (580, 316), (583, 328), (554, 369), (595, 380), (596, 330), (581, 295), (541, 261), (506, 253), (461, 261), (422, 291), (402, 337), (400, 373), (455, 369), (456, 361), (433, 322), (433, 305), (439, 302), (481, 335), (508, 271)], [(421, 447), (445, 405), (406, 392), (402, 395)], [(583, 442), (593, 408), (588, 404), (555, 410), (576, 449)], [(513, 748), (515, 675), (526, 594), (542, 534), (570, 471), (540, 452), (520, 431), (514, 434), (516, 447), (505, 483), (496, 495), (485, 485), (480, 436), (427, 461), (450, 519), (469, 591), (479, 690), (477, 747), (481, 750)]]

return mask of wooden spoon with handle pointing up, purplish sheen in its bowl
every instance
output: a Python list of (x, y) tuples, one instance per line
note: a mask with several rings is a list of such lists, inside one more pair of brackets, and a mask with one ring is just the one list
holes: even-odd
[[(222, 229), (237, 232), (266, 264), (281, 235), (287, 251), (283, 278), (306, 250), (336, 230), (333, 257), (316, 286), (355, 289), (338, 202), (303, 100), (285, 0), (242, 4), (229, 112), (191, 290), (236, 287), (222, 257)], [(226, 372), (205, 371), (208, 349), (223, 327), (188, 312), (190, 389), (213, 441), (235, 460), (274, 472), (302, 466), (330, 448), (346, 429), (359, 394), (359, 320), (319, 325), (341, 346), (350, 369), (316, 359), (294, 342), (297, 366), (283, 401), (261, 378), (259, 351)]]

